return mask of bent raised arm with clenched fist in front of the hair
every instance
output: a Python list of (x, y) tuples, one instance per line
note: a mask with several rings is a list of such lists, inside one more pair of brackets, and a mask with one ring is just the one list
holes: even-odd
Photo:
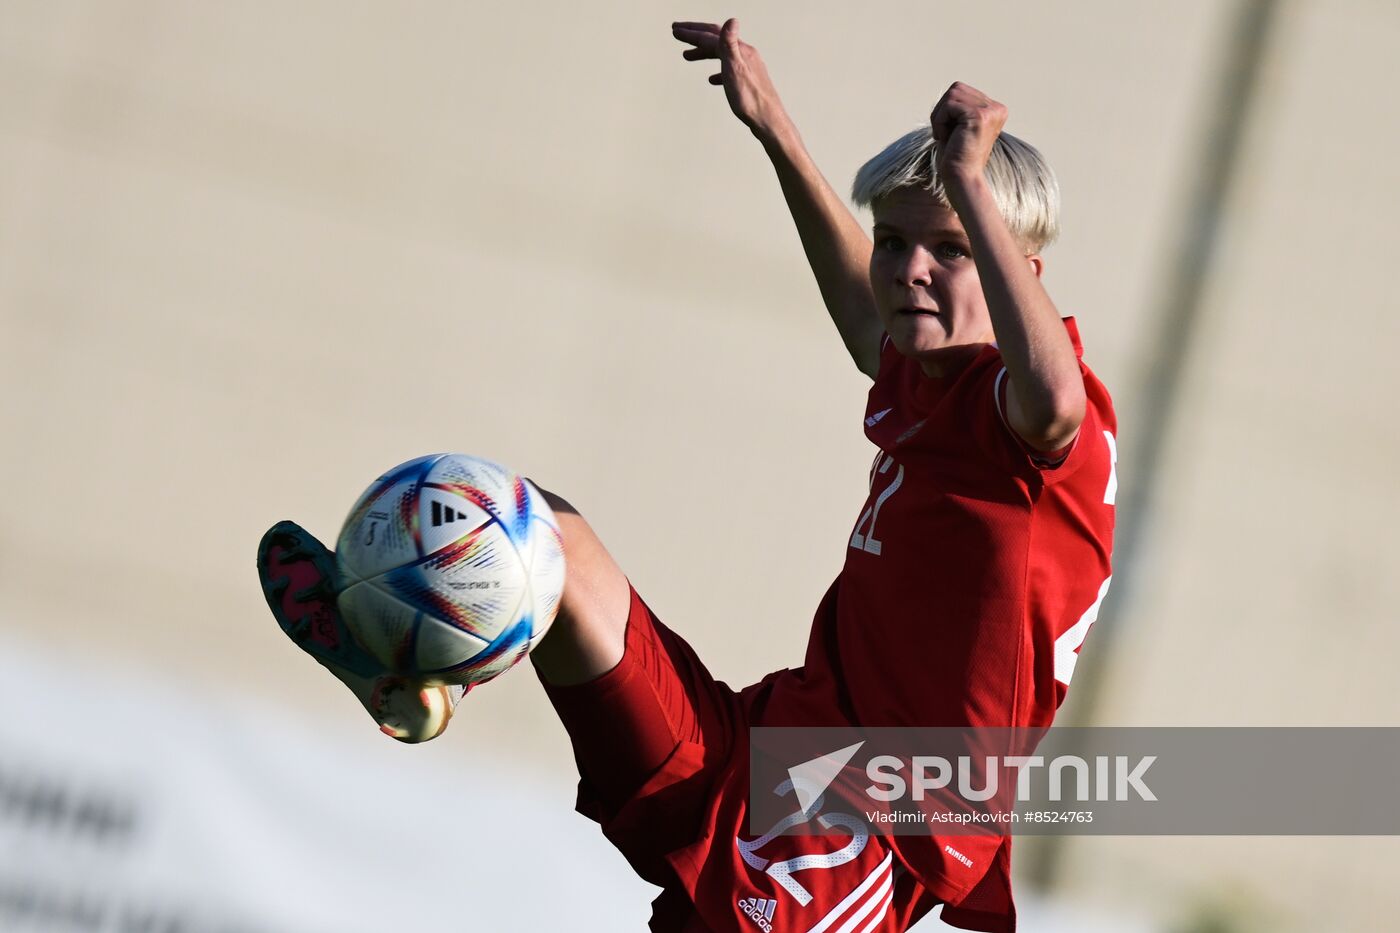
[(1060, 450), (1084, 422), (1084, 377), (1060, 312), (1040, 284), (1040, 256), (1028, 255), (1007, 228), (987, 185), (987, 157), (1007, 108), (977, 88), (953, 84), (930, 119), (938, 178), (967, 231), (1007, 367), (1007, 420), (1036, 450)]

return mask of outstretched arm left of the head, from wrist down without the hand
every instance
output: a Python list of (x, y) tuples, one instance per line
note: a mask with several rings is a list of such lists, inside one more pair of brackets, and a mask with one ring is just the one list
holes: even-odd
[(879, 366), (879, 315), (869, 286), (871, 241), (832, 189), (790, 120), (755, 130), (777, 172), (822, 301), (857, 368)]

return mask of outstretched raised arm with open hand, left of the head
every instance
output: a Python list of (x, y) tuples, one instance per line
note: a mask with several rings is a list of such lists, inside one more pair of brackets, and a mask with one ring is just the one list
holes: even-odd
[(757, 49), (739, 41), (738, 21), (675, 22), (671, 32), (694, 46), (685, 50), (687, 60), (720, 62), (710, 83), (724, 87), (729, 109), (769, 154), (826, 310), (855, 367), (875, 378), (883, 328), (871, 296), (869, 238), (812, 161)]

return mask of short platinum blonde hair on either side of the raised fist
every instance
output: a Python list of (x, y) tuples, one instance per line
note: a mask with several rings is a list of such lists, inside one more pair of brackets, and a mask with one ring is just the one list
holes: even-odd
[[(952, 209), (944, 184), (934, 171), (938, 143), (927, 123), (904, 133), (855, 172), (851, 199), (861, 207), (900, 188), (923, 188), (944, 207)], [(987, 158), (987, 182), (997, 209), (1011, 233), (1030, 252), (1039, 252), (1060, 235), (1060, 184), (1040, 151), (1002, 133)]]

